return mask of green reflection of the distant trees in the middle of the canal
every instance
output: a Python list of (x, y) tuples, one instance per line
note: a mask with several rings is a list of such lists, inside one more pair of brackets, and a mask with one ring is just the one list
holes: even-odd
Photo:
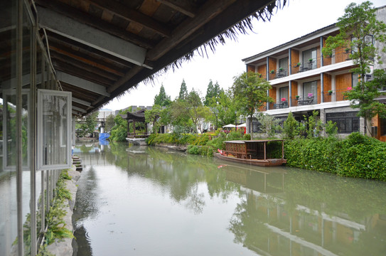
[(211, 198), (218, 196), (226, 201), (238, 187), (226, 181), (223, 170), (219, 170), (212, 158), (186, 155), (180, 151), (168, 151), (153, 146), (132, 146), (129, 151), (145, 151), (130, 154), (127, 144), (112, 143), (105, 157), (110, 164), (126, 170), (129, 176), (136, 174), (148, 178), (166, 188), (173, 200), (185, 202), (194, 213), (202, 213), (205, 206), (203, 193), (198, 193), (198, 184), (206, 182)]

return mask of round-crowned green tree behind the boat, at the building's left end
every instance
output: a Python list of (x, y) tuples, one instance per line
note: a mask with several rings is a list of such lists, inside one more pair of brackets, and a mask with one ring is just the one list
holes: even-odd
[(267, 90), (271, 88), (269, 82), (264, 78), (259, 78), (257, 73), (245, 72), (236, 76), (231, 89), (240, 114), (250, 117), (251, 122), (252, 115), (259, 111), (259, 107), (262, 107), (264, 102), (273, 101), (267, 95)]

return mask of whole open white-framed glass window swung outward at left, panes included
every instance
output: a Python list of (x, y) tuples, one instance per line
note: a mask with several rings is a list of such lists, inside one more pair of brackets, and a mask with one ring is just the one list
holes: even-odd
[(70, 92), (38, 90), (39, 169), (70, 168)]

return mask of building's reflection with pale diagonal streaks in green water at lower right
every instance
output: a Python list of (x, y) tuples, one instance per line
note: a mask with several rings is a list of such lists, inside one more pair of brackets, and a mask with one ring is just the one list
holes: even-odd
[[(386, 215), (353, 220), (339, 210), (323, 212), (328, 206), (322, 201), (318, 210), (310, 208), (310, 202), (291, 201), (284, 189), (284, 172), (233, 167), (226, 172), (227, 180), (242, 185), (246, 197), (230, 229), (237, 230), (235, 236), (250, 250), (262, 255), (361, 255), (358, 250), (371, 244), (369, 252), (385, 250)], [(254, 227), (248, 227), (251, 224)]]

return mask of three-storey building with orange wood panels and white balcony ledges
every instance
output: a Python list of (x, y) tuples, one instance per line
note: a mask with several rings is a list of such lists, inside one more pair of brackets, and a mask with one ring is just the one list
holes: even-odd
[[(377, 16), (383, 20), (385, 10), (386, 6), (377, 9)], [(338, 33), (339, 28), (333, 24), (243, 59), (247, 71), (259, 73), (272, 85), (267, 93), (274, 102), (261, 111), (283, 120), (292, 112), (300, 121), (317, 110), (324, 123), (336, 122), (340, 134), (365, 132), (365, 120), (357, 116), (358, 110), (350, 107), (344, 95), (358, 83), (358, 75), (351, 71), (355, 67), (351, 49), (336, 48), (329, 56), (321, 53), (328, 36)], [(373, 68), (385, 67), (375, 63)], [(371, 73), (367, 75), (367, 79), (371, 77)], [(257, 126), (252, 122), (252, 132), (257, 132)], [(372, 134), (386, 141), (385, 119), (373, 119)]]

